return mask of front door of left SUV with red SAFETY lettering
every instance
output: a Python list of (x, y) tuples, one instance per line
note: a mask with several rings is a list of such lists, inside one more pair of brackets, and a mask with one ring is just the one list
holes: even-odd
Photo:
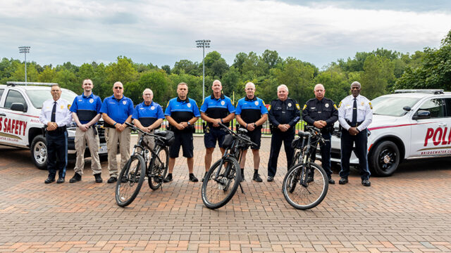
[[(28, 110), (27, 102), (20, 91), (8, 89), (5, 91), (4, 105), (1, 108), (0, 136), (1, 142), (8, 145), (26, 146), (26, 112)], [(24, 110), (11, 110), (14, 103), (23, 104)]]

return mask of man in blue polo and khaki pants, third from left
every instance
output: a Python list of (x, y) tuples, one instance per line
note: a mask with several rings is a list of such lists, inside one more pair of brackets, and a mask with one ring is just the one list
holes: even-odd
[(106, 147), (108, 148), (108, 183), (118, 181), (118, 143), (121, 145), (121, 168), (130, 158), (130, 128), (125, 122), (132, 122), (133, 102), (123, 96), (124, 86), (121, 82), (113, 84), (113, 96), (105, 98), (100, 112), (104, 118), (106, 130)]

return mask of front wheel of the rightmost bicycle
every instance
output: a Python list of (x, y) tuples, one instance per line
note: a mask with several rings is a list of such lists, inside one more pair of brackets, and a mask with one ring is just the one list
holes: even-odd
[(326, 171), (318, 164), (297, 164), (283, 179), (282, 191), (285, 200), (296, 209), (316, 207), (326, 197), (329, 187)]

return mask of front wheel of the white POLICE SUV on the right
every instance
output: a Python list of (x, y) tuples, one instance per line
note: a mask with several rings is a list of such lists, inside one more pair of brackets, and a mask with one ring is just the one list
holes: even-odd
[(376, 176), (391, 176), (400, 164), (400, 149), (393, 141), (382, 141), (369, 156), (369, 167)]

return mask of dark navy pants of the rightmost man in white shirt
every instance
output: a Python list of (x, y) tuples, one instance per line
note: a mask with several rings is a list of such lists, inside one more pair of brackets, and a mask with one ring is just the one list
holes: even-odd
[(362, 180), (369, 179), (371, 173), (368, 169), (368, 134), (367, 130), (360, 131), (356, 136), (342, 129), (341, 131), (341, 171), (340, 177), (347, 178), (350, 175), (350, 158), (352, 145), (355, 143), (355, 154), (359, 158), (360, 176)]

